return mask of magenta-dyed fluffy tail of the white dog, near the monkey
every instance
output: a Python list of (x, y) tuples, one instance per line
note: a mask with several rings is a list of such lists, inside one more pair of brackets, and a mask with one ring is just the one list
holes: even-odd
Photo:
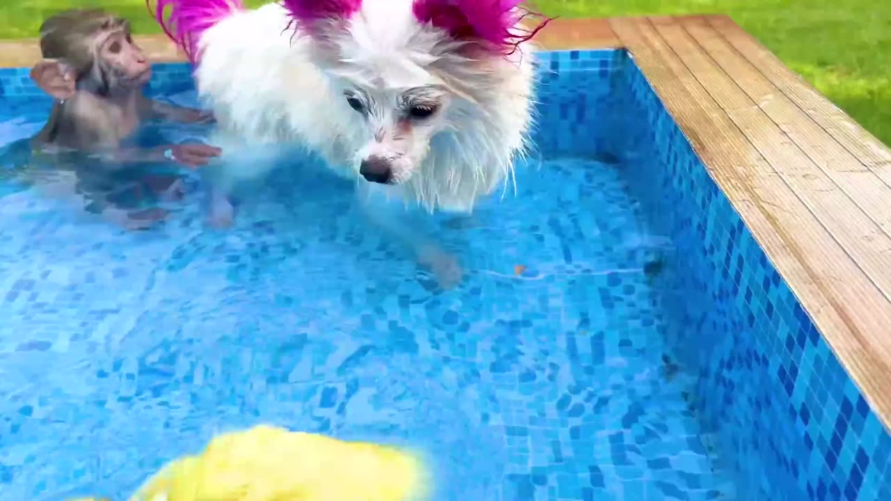
[[(154, 9), (151, 2), (145, 0), (149, 11), (153, 11), (164, 33), (182, 47), (192, 65), (200, 58), (198, 42), (204, 32), (234, 12), (244, 10), (241, 0), (158, 0)], [(171, 6), (167, 17), (164, 11)]]

